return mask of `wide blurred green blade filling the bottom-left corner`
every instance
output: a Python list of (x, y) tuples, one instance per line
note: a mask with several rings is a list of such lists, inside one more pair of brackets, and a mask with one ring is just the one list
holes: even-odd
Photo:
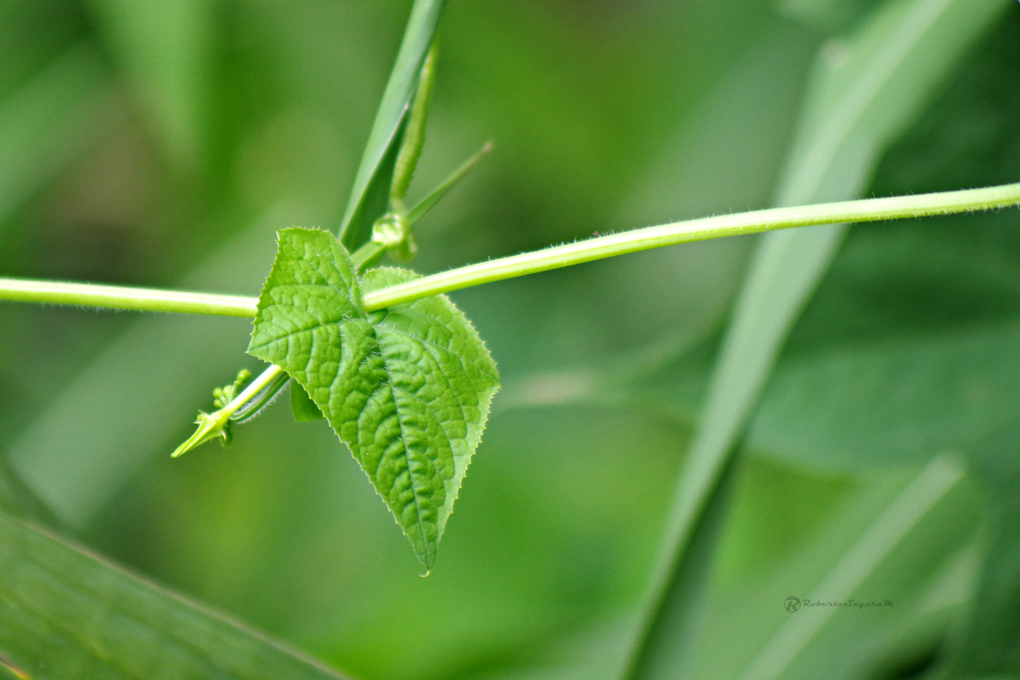
[(5, 513), (0, 574), (0, 653), (36, 680), (341, 677)]

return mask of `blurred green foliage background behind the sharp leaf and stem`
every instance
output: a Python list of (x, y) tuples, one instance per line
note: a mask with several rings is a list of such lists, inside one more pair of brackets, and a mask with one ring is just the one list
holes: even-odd
[[(882, 5), (451, 0), (412, 194), (496, 150), (416, 227), (413, 267), (770, 205), (818, 60)], [(275, 229), (336, 228), (409, 6), (0, 0), (0, 275), (256, 295)], [(1002, 7), (866, 194), (1020, 179)], [(0, 304), (0, 448), (67, 532), (359, 678), (616, 677), (754, 246), (452, 296), (504, 388), (424, 579), (349, 453), (285, 403), (168, 458), (257, 366), (245, 320)], [(1009, 525), (986, 479), (1013, 450), (970, 444), (1016, 429), (1018, 356), (1020, 213), (854, 227), (746, 439), (690, 676), (750, 672), (783, 599), (920, 466), (993, 450), (861, 586), (895, 611), (840, 612), (784, 677), (923, 669), (973, 601), (975, 536)]]

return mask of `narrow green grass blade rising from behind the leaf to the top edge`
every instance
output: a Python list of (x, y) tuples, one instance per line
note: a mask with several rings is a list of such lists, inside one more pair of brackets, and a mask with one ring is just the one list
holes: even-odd
[(400, 154), (405, 114), (414, 96), (442, 7), (442, 0), (415, 0), (411, 8), (404, 41), (382, 93), (382, 102), (368, 135), (365, 153), (340, 226), (341, 243), (352, 253), (371, 238), (372, 223), (386, 212), (390, 185)]

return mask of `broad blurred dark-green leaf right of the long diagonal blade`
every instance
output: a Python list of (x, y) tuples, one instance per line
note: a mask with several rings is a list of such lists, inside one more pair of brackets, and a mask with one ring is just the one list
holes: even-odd
[(1014, 322), (784, 361), (749, 443), (799, 465), (838, 470), (966, 452), (1020, 418), (1018, 347)]

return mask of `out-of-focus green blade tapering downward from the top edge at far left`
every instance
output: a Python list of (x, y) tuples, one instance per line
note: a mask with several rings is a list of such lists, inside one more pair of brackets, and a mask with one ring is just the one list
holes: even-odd
[(152, 120), (163, 153), (180, 169), (201, 166), (206, 146), (215, 36), (212, 0), (90, 0), (116, 61)]

